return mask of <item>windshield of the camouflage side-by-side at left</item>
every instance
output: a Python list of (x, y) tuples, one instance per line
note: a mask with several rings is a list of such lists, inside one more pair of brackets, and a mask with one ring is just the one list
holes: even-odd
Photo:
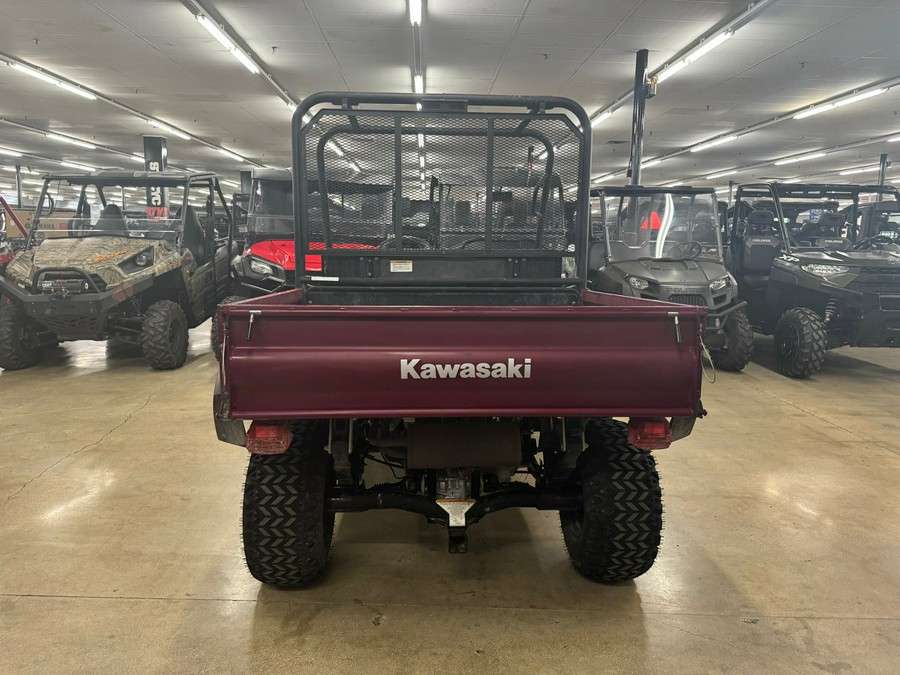
[[(212, 213), (208, 183), (188, 190), (188, 217), (205, 227)], [(146, 188), (128, 185), (77, 185), (48, 180), (35, 210), (35, 243), (48, 238), (95, 236), (166, 239), (175, 243), (181, 231), (185, 187)]]

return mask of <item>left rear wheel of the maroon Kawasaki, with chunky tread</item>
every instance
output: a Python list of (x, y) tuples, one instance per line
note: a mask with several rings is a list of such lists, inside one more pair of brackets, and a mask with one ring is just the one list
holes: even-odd
[(325, 570), (334, 513), (325, 510), (333, 482), (327, 428), (299, 424), (283, 455), (251, 455), (244, 484), (244, 556), (254, 578), (303, 586)]

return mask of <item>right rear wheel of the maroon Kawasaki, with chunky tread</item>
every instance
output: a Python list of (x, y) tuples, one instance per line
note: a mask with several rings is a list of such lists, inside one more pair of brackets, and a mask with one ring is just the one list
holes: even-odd
[(653, 566), (662, 532), (662, 491), (656, 461), (628, 442), (627, 427), (591, 420), (587, 449), (573, 478), (584, 504), (560, 511), (572, 564), (594, 581), (628, 581)]

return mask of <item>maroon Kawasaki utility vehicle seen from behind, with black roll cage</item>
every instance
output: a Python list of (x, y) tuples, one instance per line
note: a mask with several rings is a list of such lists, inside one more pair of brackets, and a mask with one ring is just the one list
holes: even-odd
[[(558, 511), (585, 576), (650, 569), (662, 527), (650, 450), (703, 414), (705, 312), (586, 290), (590, 130), (561, 98), (304, 100), (296, 287), (218, 316), (216, 429), (250, 451), (254, 577), (312, 581), (336, 513), (388, 508), (446, 526), (455, 553), (489, 513)], [(368, 187), (332, 208), (329, 186), (347, 182)], [(438, 182), (442, 198), (411, 213)], [(367, 207), (385, 184), (391, 208)], [(346, 247), (360, 242), (374, 248)], [(395, 481), (367, 486), (372, 463)]]

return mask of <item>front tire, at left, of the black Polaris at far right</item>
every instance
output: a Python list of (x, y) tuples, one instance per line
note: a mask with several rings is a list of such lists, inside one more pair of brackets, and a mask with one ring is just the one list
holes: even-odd
[(809, 377), (825, 361), (827, 337), (821, 317), (806, 307), (789, 309), (775, 326), (778, 370), (788, 377)]

